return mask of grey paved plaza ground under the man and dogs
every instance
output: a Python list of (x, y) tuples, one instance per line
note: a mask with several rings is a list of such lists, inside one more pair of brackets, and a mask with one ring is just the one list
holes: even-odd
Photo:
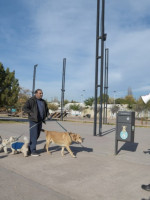
[[(115, 125), (103, 125), (103, 136), (93, 136), (93, 123), (59, 122), (84, 138), (84, 147), (72, 144), (77, 158), (52, 145), (51, 155), (43, 151), (41, 133), (39, 157), (0, 153), (1, 200), (148, 200), (150, 192), (141, 184), (150, 183), (150, 128), (136, 127), (134, 143), (119, 142), (115, 152)], [(28, 136), (27, 122), (0, 123), (0, 135)], [(44, 129), (63, 132), (56, 121)], [(20, 138), (23, 140), (23, 137)], [(146, 151), (143, 153), (143, 151)]]

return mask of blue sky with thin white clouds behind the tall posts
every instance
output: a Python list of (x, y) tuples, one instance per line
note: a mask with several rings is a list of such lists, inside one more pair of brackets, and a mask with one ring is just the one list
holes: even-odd
[[(109, 48), (108, 95), (150, 93), (150, 1), (105, 1), (105, 48)], [(61, 99), (94, 97), (97, 0), (0, 0), (0, 62), (15, 71), (24, 89)], [(100, 75), (99, 75), (100, 76)], [(114, 92), (115, 91), (115, 92)]]

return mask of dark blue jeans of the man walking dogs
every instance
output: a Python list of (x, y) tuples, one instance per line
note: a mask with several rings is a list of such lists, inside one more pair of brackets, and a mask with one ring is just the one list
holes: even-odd
[(40, 136), (40, 131), (42, 129), (42, 122), (29, 121), (29, 126), (30, 126), (29, 151), (33, 153), (36, 151), (36, 144)]

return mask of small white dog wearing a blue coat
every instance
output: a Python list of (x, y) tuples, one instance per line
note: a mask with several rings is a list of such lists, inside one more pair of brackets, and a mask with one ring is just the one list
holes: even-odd
[(27, 137), (24, 137), (24, 142), (11, 142), (11, 154), (15, 154), (18, 152), (23, 153), (24, 157), (28, 156), (28, 146), (29, 146), (29, 140)]

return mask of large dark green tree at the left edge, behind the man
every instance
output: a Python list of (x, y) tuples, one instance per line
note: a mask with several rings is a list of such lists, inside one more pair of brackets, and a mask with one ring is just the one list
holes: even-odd
[(7, 109), (14, 106), (18, 100), (19, 90), (15, 71), (10, 72), (9, 68), (5, 70), (3, 64), (0, 63), (0, 106)]

